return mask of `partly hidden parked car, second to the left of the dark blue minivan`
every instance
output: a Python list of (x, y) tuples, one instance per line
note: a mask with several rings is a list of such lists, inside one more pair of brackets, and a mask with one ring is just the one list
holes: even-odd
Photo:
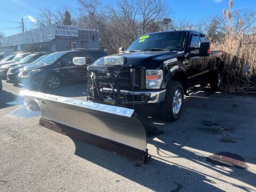
[(27, 55), (26, 57), (22, 58), (20, 61), (18, 62), (12, 62), (12, 63), (7, 63), (5, 65), (2, 65), (0, 67), (0, 73), (2, 75), (2, 78), (3, 79), (6, 79), (7, 78), (7, 71), (11, 68), (11, 67), (14, 67), (14, 66), (18, 66), (18, 65), (22, 65), (22, 64), (26, 64), (26, 63), (30, 63), (30, 62), (33, 62), (35, 61), (36, 59), (38, 59), (39, 57), (41, 57), (44, 53), (41, 52), (41, 53), (32, 53), (32, 54), (29, 54)]

